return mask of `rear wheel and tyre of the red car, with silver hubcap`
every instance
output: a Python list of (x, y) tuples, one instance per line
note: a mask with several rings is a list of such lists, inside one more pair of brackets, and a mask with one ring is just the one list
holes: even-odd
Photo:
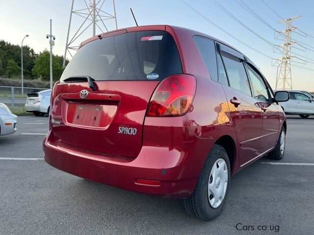
[(206, 221), (217, 217), (224, 207), (229, 186), (230, 162), (227, 152), (222, 146), (214, 144), (192, 195), (183, 199), (185, 210), (189, 215)]

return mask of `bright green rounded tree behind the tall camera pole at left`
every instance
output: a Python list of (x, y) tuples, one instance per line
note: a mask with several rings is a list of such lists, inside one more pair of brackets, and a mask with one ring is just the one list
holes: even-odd
[[(52, 55), (52, 79), (58, 80), (63, 72), (60, 59)], [(32, 69), (32, 75), (41, 77), (43, 80), (49, 81), (50, 79), (50, 53), (48, 50), (41, 52), (35, 60), (35, 66)]]

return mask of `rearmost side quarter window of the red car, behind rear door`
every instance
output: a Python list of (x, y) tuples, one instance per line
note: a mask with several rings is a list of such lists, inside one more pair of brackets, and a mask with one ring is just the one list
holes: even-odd
[(207, 38), (195, 36), (194, 42), (201, 53), (201, 56), (204, 60), (204, 63), (207, 67), (207, 71), (209, 72), (211, 79), (217, 82), (218, 81), (217, 61), (214, 41)]

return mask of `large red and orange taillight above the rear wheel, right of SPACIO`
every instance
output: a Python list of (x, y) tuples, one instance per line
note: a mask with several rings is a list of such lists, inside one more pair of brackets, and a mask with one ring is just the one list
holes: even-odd
[(190, 109), (196, 89), (196, 79), (187, 74), (175, 74), (162, 80), (149, 103), (147, 116), (182, 116)]

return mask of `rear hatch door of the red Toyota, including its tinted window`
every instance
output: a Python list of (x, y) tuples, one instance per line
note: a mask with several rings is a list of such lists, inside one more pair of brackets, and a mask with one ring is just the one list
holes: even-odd
[(129, 32), (87, 43), (52, 93), (55, 141), (136, 157), (150, 98), (162, 79), (176, 73), (182, 73), (179, 52), (165, 31)]

